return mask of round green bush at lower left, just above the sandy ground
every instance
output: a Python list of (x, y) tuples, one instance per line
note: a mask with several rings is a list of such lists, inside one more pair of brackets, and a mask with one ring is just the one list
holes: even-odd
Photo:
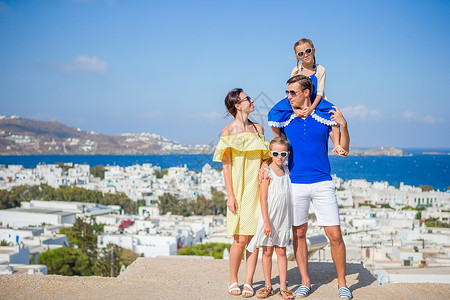
[(95, 275), (95, 261), (83, 253), (81, 249), (62, 247), (48, 250), (39, 255), (39, 264), (47, 266), (48, 274), (65, 276)]

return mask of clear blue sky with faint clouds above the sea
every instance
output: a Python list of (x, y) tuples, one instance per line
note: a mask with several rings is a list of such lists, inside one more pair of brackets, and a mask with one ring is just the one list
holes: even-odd
[(449, 12), (449, 1), (0, 1), (0, 114), (213, 144), (232, 88), (265, 122), (307, 37), (352, 147), (450, 148)]

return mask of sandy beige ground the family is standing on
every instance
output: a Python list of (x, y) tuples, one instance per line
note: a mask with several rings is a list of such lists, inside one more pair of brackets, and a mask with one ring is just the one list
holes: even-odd
[[(338, 299), (332, 263), (309, 264), (313, 282), (311, 299)], [(245, 267), (240, 270), (240, 286)], [(278, 292), (274, 261), (272, 283)], [(299, 272), (288, 265), (288, 288), (296, 289)], [(380, 286), (360, 264), (347, 264), (347, 282), (355, 299), (450, 299), (449, 284), (387, 284)], [(117, 278), (57, 275), (0, 275), (0, 299), (241, 299), (227, 293), (228, 261), (174, 256), (138, 258)], [(264, 286), (261, 263), (255, 290)], [(273, 299), (281, 299), (272, 296)], [(253, 297), (252, 299), (257, 299)]]

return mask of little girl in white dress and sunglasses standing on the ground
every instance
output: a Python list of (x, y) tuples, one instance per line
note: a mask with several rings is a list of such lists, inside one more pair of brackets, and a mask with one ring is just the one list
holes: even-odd
[(258, 298), (273, 295), (271, 273), (273, 250), (277, 254), (278, 272), (280, 274), (280, 296), (293, 299), (292, 292), (286, 288), (287, 259), (286, 246), (292, 225), (291, 181), (289, 170), (284, 165), (289, 155), (289, 142), (275, 138), (270, 142), (272, 162), (264, 171), (260, 186), (261, 214), (256, 234), (247, 246), (249, 252), (263, 248), (263, 272), (265, 287), (258, 291)]

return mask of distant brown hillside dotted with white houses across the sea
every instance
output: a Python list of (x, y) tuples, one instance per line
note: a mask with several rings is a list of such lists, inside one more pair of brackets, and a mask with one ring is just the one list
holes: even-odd
[(211, 145), (184, 145), (155, 133), (105, 135), (38, 121), (0, 115), (0, 154), (173, 154), (211, 153)]

